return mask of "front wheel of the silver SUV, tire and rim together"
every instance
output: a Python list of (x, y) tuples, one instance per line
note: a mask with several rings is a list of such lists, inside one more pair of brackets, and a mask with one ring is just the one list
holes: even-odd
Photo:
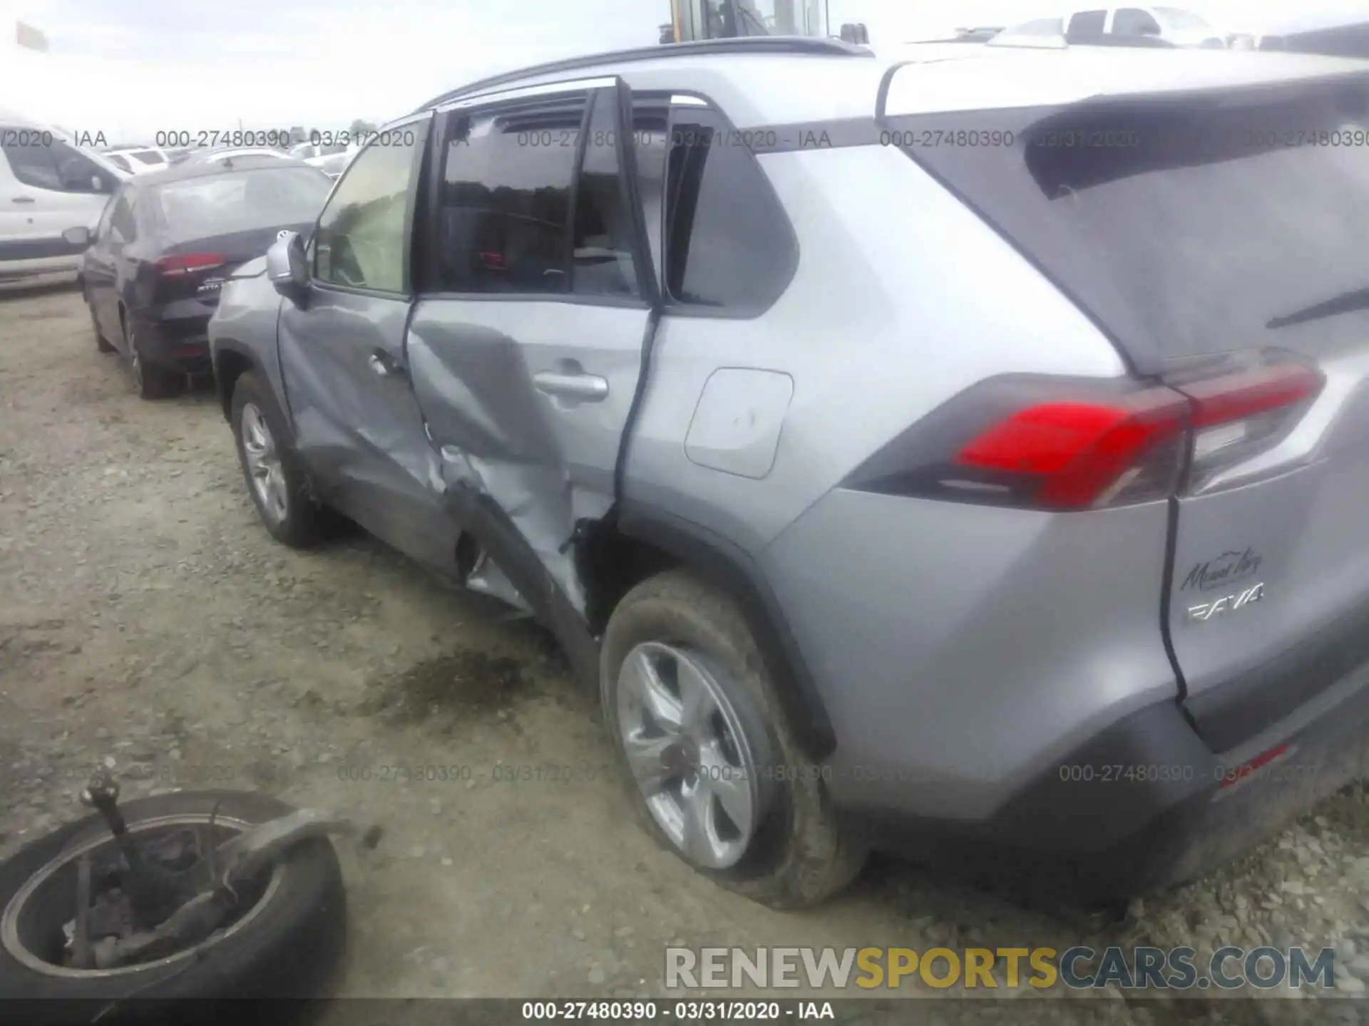
[(296, 549), (318, 542), (323, 510), (309, 494), (308, 477), (290, 447), (270, 386), (251, 371), (234, 383), (231, 423), (242, 477), (266, 529)]

